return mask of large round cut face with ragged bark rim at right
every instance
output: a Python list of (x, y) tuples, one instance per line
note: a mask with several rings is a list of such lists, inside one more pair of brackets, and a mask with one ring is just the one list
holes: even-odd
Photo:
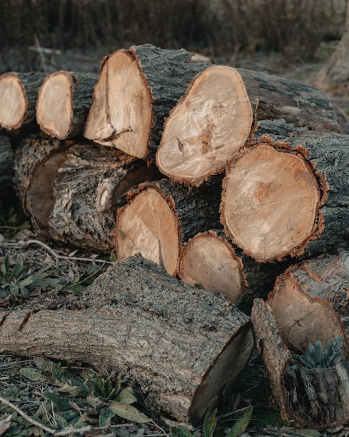
[(259, 261), (297, 255), (316, 232), (319, 186), (300, 154), (258, 143), (226, 173), (222, 223), (245, 253)]

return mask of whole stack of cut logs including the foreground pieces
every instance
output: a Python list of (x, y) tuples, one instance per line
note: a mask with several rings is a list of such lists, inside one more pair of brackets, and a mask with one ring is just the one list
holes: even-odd
[[(105, 57), (98, 77), (3, 74), (0, 103), (1, 184), (38, 234), (118, 258), (81, 299), (86, 318), (39, 312), (23, 339), (23, 314), (6, 314), (1, 350), (33, 355), (35, 339), (41, 354), (107, 362), (149, 406), (198, 424), (247, 364), (252, 322), (284, 419), (349, 422), (349, 138), (323, 91), (141, 45)], [(251, 320), (235, 306), (249, 298)], [(40, 336), (55, 323), (61, 343)], [(290, 350), (338, 336), (341, 363), (290, 366)]]

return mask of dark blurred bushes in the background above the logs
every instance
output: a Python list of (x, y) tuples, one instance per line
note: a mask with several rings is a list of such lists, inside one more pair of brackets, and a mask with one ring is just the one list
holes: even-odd
[(1, 0), (0, 62), (29, 71), (41, 65), (35, 45), (107, 54), (144, 43), (308, 61), (341, 37), (344, 11), (345, 0)]

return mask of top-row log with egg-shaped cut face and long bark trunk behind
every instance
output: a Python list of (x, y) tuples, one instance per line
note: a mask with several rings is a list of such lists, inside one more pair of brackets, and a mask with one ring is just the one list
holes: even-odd
[(255, 121), (293, 124), (289, 135), (339, 132), (327, 97), (267, 73), (212, 66), (189, 84), (164, 125), (156, 162), (164, 175), (199, 185), (222, 172)]

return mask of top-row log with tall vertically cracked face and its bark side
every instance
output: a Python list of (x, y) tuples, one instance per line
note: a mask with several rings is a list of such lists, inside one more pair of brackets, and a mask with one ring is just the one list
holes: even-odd
[(190, 61), (186, 50), (150, 44), (104, 57), (84, 136), (155, 161), (164, 118), (192, 78), (210, 65)]

